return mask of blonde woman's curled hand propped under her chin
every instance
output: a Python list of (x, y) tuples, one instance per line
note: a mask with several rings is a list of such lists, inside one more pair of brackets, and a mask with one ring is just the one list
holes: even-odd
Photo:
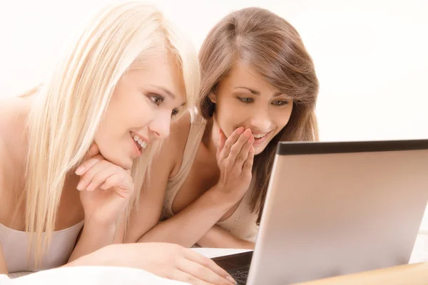
[(85, 224), (113, 225), (133, 195), (131, 172), (106, 160), (93, 143), (76, 174)]

